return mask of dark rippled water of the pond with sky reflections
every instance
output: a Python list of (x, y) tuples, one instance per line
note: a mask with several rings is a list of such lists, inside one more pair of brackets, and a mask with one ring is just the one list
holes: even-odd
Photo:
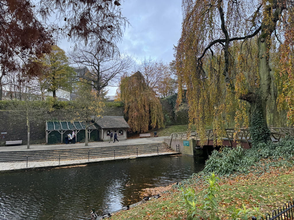
[(0, 219), (90, 219), (91, 209), (102, 214), (139, 202), (142, 189), (180, 182), (204, 162), (163, 156), (0, 173)]

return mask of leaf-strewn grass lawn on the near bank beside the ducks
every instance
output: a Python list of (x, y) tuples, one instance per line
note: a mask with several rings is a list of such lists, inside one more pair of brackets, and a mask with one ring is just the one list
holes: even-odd
[[(267, 166), (267, 163), (267, 160), (264, 160), (266, 169), (258, 168), (247, 175), (220, 178), (218, 181), (220, 191), (217, 194), (220, 219), (232, 219), (232, 213), (241, 209), (243, 213), (239, 217), (248, 212), (248, 217), (251, 219), (252, 215), (271, 213), (272, 210), (293, 199), (293, 168), (271, 167)], [(199, 177), (192, 177), (185, 187), (190, 186), (195, 189), (198, 197), (197, 206), (200, 206), (204, 202), (203, 189), (206, 189), (207, 185), (203, 178), (201, 181), (198, 180)], [(161, 198), (152, 199), (128, 211), (120, 211), (111, 219), (190, 219), (187, 217), (187, 208), (182, 201), (181, 191), (177, 187), (146, 189), (145, 193), (151, 195), (163, 191)], [(258, 211), (253, 210), (254, 207)], [(199, 217), (199, 219), (203, 218)]]

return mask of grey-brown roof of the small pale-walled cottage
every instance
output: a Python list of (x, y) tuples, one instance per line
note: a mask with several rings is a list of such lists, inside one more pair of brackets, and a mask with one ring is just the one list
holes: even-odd
[(103, 116), (96, 124), (99, 128), (129, 128), (123, 116)]

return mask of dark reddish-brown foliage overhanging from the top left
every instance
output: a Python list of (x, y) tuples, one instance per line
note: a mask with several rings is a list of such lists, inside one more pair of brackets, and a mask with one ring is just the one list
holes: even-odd
[(41, 75), (33, 61), (60, 39), (95, 42), (100, 53), (114, 50), (128, 24), (119, 6), (117, 0), (0, 1), (0, 94), (10, 71)]

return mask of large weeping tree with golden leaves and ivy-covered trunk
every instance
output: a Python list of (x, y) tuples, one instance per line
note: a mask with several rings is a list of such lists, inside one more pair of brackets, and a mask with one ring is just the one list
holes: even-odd
[[(228, 126), (249, 126), (253, 143), (269, 141), (267, 109), (285, 94), (278, 81), (289, 85), (293, 76), (287, 57), (293, 57), (293, 1), (183, 0), (182, 7), (178, 105), (187, 89), (190, 124), (202, 144), (210, 126), (217, 136)], [(274, 62), (276, 56), (282, 62)], [(280, 105), (289, 109), (293, 97), (287, 97)]]

